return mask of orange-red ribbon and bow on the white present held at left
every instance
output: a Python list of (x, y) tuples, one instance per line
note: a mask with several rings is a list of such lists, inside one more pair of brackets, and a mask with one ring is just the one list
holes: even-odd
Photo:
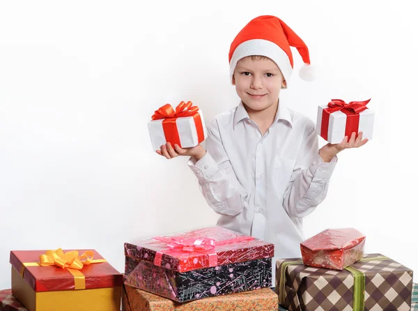
[(199, 107), (193, 106), (191, 101), (185, 103), (180, 102), (176, 107), (176, 110), (171, 107), (170, 104), (166, 104), (159, 109), (155, 110), (151, 119), (161, 120), (162, 129), (164, 130), (164, 136), (166, 142), (170, 142), (172, 145), (178, 144), (181, 147), (180, 136), (178, 135), (177, 118), (184, 118), (192, 116), (194, 124), (196, 125), (197, 139), (199, 144), (205, 139), (203, 130), (203, 122), (199, 114)]

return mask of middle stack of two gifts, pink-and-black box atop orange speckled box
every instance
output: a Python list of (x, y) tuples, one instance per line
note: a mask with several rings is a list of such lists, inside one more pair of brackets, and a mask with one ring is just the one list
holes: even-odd
[(222, 227), (125, 243), (124, 309), (278, 310), (273, 255), (273, 244)]

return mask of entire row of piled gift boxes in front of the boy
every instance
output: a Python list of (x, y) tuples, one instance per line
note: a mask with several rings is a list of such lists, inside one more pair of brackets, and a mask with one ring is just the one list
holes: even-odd
[(12, 251), (0, 310), (414, 310), (412, 271), (364, 243), (355, 229), (309, 238), (275, 263), (276, 293), (274, 246), (222, 227), (125, 243), (124, 274), (95, 250)]

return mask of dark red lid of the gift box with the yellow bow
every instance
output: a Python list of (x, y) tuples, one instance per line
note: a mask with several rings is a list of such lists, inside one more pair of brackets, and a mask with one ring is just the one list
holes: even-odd
[[(86, 250), (79, 250), (80, 254)], [(24, 280), (36, 291), (63, 291), (75, 289), (75, 278), (66, 268), (58, 266), (25, 266), (38, 263), (40, 255), (46, 250), (13, 250), (10, 252), (10, 264), (23, 274)], [(68, 252), (65, 250), (64, 252)], [(93, 250), (94, 259), (103, 257)], [(108, 262), (90, 264), (80, 270), (85, 278), (86, 289), (120, 287), (123, 284), (121, 273)], [(22, 273), (23, 272), (23, 273)]]

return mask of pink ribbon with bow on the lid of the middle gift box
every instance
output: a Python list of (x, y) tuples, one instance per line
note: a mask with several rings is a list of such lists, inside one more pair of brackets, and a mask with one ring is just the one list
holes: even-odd
[(167, 250), (155, 253), (154, 264), (161, 266), (163, 252), (169, 255), (184, 255), (192, 252), (200, 252), (208, 255), (209, 266), (217, 266), (217, 253), (215, 246), (239, 243), (254, 240), (254, 236), (238, 236), (224, 241), (215, 241), (213, 238), (196, 237), (183, 238), (182, 236), (155, 236), (153, 239), (167, 243)]

